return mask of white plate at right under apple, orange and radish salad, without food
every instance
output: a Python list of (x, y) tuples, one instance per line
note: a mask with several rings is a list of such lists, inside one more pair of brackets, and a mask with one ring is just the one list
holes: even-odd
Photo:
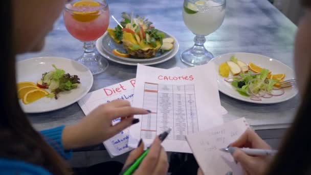
[(221, 63), (229, 61), (231, 56), (235, 56), (237, 59), (249, 64), (253, 62), (254, 64), (260, 66), (261, 68), (268, 69), (272, 71), (272, 74), (285, 74), (284, 80), (295, 78), (293, 70), (285, 65), (284, 63), (269, 58), (263, 55), (252, 54), (252, 53), (228, 53), (224, 55), (219, 55), (213, 58), (211, 61), (216, 65), (217, 71), (217, 82), (219, 91), (238, 100), (247, 101), (251, 103), (261, 103), (261, 104), (270, 104), (270, 103), (279, 103), (286, 100), (289, 100), (295, 97), (298, 93), (297, 87), (292, 86), (291, 88), (286, 88), (285, 93), (281, 96), (273, 96), (271, 98), (261, 98), (261, 101), (251, 100), (250, 97), (245, 97), (240, 95), (235, 88), (227, 81), (225, 78), (220, 76), (218, 73), (218, 67)]

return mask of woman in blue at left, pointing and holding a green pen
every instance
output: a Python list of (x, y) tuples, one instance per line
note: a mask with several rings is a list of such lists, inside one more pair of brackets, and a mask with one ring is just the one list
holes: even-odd
[[(97, 107), (77, 124), (59, 126), (38, 133), (19, 106), (16, 93), (15, 55), (39, 51), (45, 36), (52, 30), (66, 0), (3, 1), (0, 6), (0, 174), (70, 174), (62, 158), (69, 158), (71, 149), (102, 143), (124, 128), (138, 123), (136, 114), (150, 111), (131, 107), (128, 101), (115, 100)], [(4, 101), (5, 100), (5, 101)], [(112, 120), (124, 119), (111, 126)], [(143, 151), (143, 144), (132, 151), (127, 163)], [(117, 169), (120, 171), (122, 168)], [(148, 156), (137, 173), (163, 174), (168, 163), (160, 140), (154, 140)], [(117, 174), (113, 168), (102, 173)]]

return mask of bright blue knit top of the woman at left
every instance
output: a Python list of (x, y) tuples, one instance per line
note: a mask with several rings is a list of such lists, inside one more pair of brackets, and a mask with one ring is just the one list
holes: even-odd
[[(61, 143), (61, 134), (65, 126), (58, 126), (52, 129), (42, 130), (40, 133), (46, 142), (52, 146), (64, 159), (70, 159), (72, 151), (66, 151)], [(20, 174), (20, 175), (51, 175), (51, 173), (38, 165), (24, 161), (0, 158), (0, 174)]]

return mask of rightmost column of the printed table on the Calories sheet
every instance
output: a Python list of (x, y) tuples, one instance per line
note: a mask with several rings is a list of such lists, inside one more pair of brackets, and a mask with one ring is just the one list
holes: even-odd
[(185, 85), (188, 134), (198, 132), (194, 85)]

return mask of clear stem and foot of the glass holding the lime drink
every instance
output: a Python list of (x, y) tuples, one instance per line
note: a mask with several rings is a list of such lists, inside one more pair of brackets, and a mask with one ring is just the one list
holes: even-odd
[(205, 49), (205, 41), (206, 39), (204, 35), (196, 35), (194, 37), (194, 46), (182, 53), (182, 61), (193, 66), (208, 63), (208, 61), (214, 56), (211, 52)]

